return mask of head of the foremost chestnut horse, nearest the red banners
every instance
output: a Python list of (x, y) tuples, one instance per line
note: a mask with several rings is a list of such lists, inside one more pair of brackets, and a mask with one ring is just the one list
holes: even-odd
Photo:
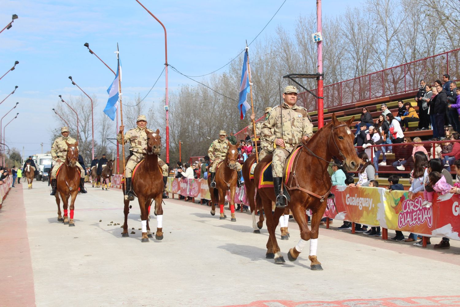
[(330, 146), (332, 155), (344, 162), (344, 167), (349, 171), (356, 171), (359, 166), (359, 158), (354, 144), (355, 136), (351, 132), (350, 125), (355, 120), (352, 116), (347, 122), (341, 122), (332, 114), (331, 137), (335, 146)]

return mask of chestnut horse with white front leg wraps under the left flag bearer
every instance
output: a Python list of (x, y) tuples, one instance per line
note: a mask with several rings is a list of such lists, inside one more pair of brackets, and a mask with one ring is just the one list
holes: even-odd
[[(150, 232), (149, 220), (149, 207), (152, 199), (155, 200), (155, 213), (157, 220), (157, 228), (155, 239), (163, 239), (163, 207), (161, 201), (163, 200), (163, 175), (161, 169), (158, 167), (158, 155), (161, 152), (161, 136), (160, 130), (156, 129), (155, 132), (147, 134), (147, 155), (141, 162), (138, 163), (136, 172), (132, 176), (131, 186), (132, 191), (138, 197), (139, 207), (141, 209), (141, 223), (142, 223), (142, 242), (149, 242), (149, 237), (152, 237)], [(128, 235), (128, 214), (129, 214), (129, 201), (124, 199), (125, 208), (125, 223), (123, 224), (122, 237), (129, 237)]]

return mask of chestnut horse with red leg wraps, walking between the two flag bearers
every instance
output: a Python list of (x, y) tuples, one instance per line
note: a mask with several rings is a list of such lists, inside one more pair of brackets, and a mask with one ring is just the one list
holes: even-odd
[(211, 195), (211, 215), (216, 214), (216, 203), (219, 203), (220, 217), (219, 220), (224, 220), (226, 215), (224, 214), (224, 202), (227, 191), (230, 190), (230, 213), (231, 221), (236, 222), (235, 217), (235, 191), (236, 191), (236, 180), (238, 174), (236, 173), (236, 160), (238, 159), (238, 145), (231, 145), (228, 143), (229, 149), (225, 155), (225, 159), (220, 163), (219, 168), (216, 169), (214, 181), (216, 187), (211, 187), (211, 177), (207, 177), (207, 185), (209, 186), (209, 194)]

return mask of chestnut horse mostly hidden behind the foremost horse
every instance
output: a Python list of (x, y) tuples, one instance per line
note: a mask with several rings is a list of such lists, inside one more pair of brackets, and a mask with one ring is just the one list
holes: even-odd
[[(271, 157), (272, 155), (270, 155)], [(271, 158), (270, 158), (271, 159)], [(246, 196), (247, 196), (247, 201), (249, 202), (249, 208), (251, 209), (251, 215), (253, 218), (253, 233), (260, 233), (260, 229), (262, 229), (262, 226), (264, 226), (264, 214), (262, 213), (262, 204), (259, 203), (259, 207), (256, 208), (256, 203), (255, 203), (255, 192), (256, 192), (256, 184), (253, 179), (249, 178), (249, 175), (251, 173), (251, 168), (253, 164), (256, 162), (256, 155), (249, 156), (246, 161), (243, 163), (241, 170), (242, 170), (242, 175), (244, 178), (244, 185), (246, 187)], [(256, 221), (256, 211), (259, 211), (259, 221)], [(270, 211), (271, 212), (271, 211)], [(284, 215), (287, 214), (289, 215), (289, 209), (285, 210), (285, 213), (280, 217), (280, 222), (281, 219), (284, 219)], [(288, 240), (289, 238), (289, 232), (288, 232), (288, 224), (286, 223), (286, 220), (283, 220), (283, 224), (285, 226), (282, 227), (281, 229), (281, 239), (282, 240)], [(282, 225), (283, 225), (282, 224)]]

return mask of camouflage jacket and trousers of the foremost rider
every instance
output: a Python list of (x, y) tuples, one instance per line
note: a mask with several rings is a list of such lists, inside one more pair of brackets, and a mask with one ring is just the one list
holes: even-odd
[(263, 124), (261, 136), (270, 144), (274, 144), (275, 139), (283, 139), (286, 145), (285, 148), (276, 147), (273, 151), (273, 177), (282, 177), (286, 158), (305, 135), (308, 137), (313, 135), (313, 124), (305, 108), (298, 105), (289, 107), (288, 104), (283, 102), (282, 120), (280, 106), (276, 106), (270, 111), (267, 120)]

